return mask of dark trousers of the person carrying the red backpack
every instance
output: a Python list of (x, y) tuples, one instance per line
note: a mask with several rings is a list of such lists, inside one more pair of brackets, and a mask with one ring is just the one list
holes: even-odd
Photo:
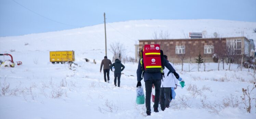
[(151, 99), (151, 92), (152, 92), (152, 85), (155, 85), (155, 103), (154, 108), (158, 108), (159, 105), (159, 98), (160, 98), (160, 86), (161, 86), (161, 79), (150, 79), (145, 81), (145, 88), (146, 88), (146, 109), (147, 111), (151, 112), (150, 108), (150, 99)]

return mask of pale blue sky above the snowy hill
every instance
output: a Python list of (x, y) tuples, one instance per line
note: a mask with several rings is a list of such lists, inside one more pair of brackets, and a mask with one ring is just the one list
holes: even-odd
[[(256, 0), (0, 0), (0, 36), (139, 19), (256, 22)], [(256, 26), (255, 26), (256, 28)]]

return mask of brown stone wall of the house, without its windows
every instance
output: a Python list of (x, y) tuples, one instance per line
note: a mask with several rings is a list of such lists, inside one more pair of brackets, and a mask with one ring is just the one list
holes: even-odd
[[(168, 56), (169, 61), (173, 63), (181, 63), (182, 57), (184, 58), (184, 63), (195, 63), (195, 58), (201, 54), (205, 62), (214, 62), (213, 55), (216, 52), (221, 52), (221, 48), (226, 48), (227, 39), (241, 39), (242, 40), (242, 54), (244, 54), (244, 40), (245, 37), (233, 37), (233, 38), (200, 38), (200, 39), (167, 39), (167, 40), (139, 40), (139, 49), (142, 49), (145, 44), (160, 44), (161, 49), (164, 54)], [(176, 46), (184, 45), (185, 54), (176, 54)], [(213, 45), (213, 53), (205, 54), (204, 46)], [(138, 53), (140, 56), (140, 53)]]

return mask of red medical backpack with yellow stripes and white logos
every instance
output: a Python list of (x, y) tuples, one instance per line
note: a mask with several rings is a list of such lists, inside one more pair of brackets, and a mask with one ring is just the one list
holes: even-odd
[(146, 44), (141, 50), (141, 67), (144, 72), (153, 73), (161, 72), (164, 69), (163, 51), (160, 50), (159, 44)]

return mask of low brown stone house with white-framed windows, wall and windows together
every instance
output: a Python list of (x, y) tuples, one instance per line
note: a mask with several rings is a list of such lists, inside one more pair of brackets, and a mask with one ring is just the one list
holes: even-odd
[(139, 44), (135, 45), (135, 59), (139, 59), (139, 51), (145, 44), (160, 44), (164, 54), (173, 63), (181, 63), (182, 59), (184, 63), (195, 63), (195, 58), (198, 58), (199, 54), (205, 62), (214, 62), (213, 57), (216, 54), (227, 53), (230, 47), (235, 56), (244, 55), (243, 60), (246, 60), (246, 56), (249, 56), (251, 51), (250, 40), (246, 37), (139, 40)]

